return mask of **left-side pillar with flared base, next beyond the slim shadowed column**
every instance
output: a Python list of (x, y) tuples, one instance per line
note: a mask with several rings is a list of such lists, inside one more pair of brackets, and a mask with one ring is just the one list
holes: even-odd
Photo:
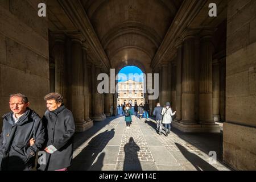
[[(104, 112), (102, 107), (102, 94), (98, 93), (97, 86), (100, 83), (100, 81), (97, 80), (98, 75), (101, 73), (101, 67), (95, 66), (94, 67), (94, 74), (92, 75), (92, 84), (93, 84), (93, 110), (94, 115), (92, 117), (93, 121), (103, 121), (106, 119), (106, 115), (102, 114)], [(92, 70), (93, 72), (93, 70)]]

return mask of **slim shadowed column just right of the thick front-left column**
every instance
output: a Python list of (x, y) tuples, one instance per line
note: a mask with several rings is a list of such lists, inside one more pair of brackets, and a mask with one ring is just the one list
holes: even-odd
[(88, 79), (88, 68), (87, 68), (87, 49), (86, 42), (82, 43), (83, 53), (83, 68), (84, 68), (84, 120), (86, 122), (86, 130), (93, 126), (93, 121), (90, 119), (90, 105), (89, 105), (89, 79)]

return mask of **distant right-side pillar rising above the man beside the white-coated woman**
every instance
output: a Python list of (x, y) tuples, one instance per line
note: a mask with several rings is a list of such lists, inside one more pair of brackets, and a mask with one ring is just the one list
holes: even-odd
[(168, 64), (162, 65), (162, 72), (161, 72), (161, 80), (162, 80), (162, 86), (161, 86), (161, 101), (160, 104), (162, 106), (166, 105), (166, 102), (170, 102), (168, 97)]

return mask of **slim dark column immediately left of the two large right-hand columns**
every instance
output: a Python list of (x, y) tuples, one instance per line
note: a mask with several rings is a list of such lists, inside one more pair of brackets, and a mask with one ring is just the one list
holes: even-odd
[(176, 121), (180, 122), (182, 119), (182, 95), (181, 95), (181, 68), (183, 61), (183, 41), (179, 39), (176, 44), (177, 47), (177, 76), (176, 76)]

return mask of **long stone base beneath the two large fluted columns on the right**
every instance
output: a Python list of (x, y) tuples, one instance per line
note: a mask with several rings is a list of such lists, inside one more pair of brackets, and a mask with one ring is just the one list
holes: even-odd
[(172, 126), (184, 133), (220, 133), (220, 126), (216, 124), (184, 124), (172, 121)]

